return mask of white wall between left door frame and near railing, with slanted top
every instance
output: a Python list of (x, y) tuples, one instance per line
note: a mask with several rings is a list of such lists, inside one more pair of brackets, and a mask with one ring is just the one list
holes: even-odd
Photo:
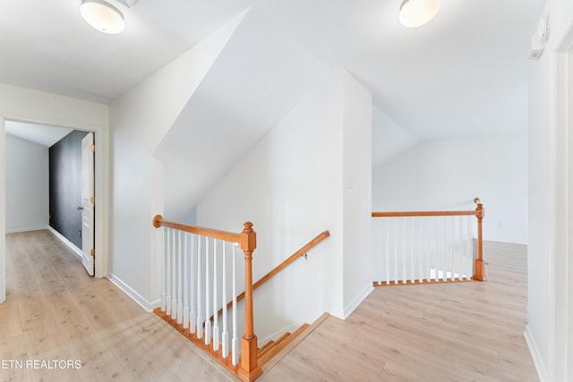
[(163, 214), (163, 164), (153, 153), (238, 22), (230, 21), (110, 106), (114, 256), (109, 278), (148, 310), (158, 305), (160, 293), (161, 234), (151, 222)]

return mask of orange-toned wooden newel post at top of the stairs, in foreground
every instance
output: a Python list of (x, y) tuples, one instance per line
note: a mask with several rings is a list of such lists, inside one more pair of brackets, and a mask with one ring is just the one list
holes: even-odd
[(257, 233), (252, 230), (252, 223), (247, 222), (241, 233), (241, 249), (244, 251), (244, 336), (241, 340), (242, 355), (238, 370), (238, 377), (244, 381), (252, 381), (262, 372), (257, 360), (259, 348), (252, 318), (252, 251), (255, 248)]

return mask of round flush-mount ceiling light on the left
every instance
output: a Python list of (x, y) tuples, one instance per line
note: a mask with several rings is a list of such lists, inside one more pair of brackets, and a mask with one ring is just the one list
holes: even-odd
[(80, 13), (83, 20), (100, 32), (117, 34), (124, 31), (124, 15), (103, 0), (82, 0)]

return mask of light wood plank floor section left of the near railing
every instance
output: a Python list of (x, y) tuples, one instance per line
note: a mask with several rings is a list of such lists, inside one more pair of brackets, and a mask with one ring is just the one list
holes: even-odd
[[(52, 233), (8, 234), (6, 249), (0, 380), (235, 380), (107, 279), (88, 276)], [(65, 363), (54, 360), (81, 368), (60, 369)]]

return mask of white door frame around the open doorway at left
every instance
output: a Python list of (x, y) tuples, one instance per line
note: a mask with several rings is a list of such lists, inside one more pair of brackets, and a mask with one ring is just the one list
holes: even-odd
[[(107, 190), (109, 190), (108, 172), (107, 172), (107, 126), (99, 126), (90, 123), (66, 123), (58, 118), (38, 119), (30, 115), (0, 115), (0, 195), (5, 195), (5, 121), (17, 121), (24, 123), (36, 123), (51, 125), (57, 127), (67, 127), (73, 130), (94, 132), (96, 145), (95, 152), (95, 182), (96, 182), (96, 265), (95, 276), (101, 278), (107, 276), (107, 254), (108, 254), (108, 232), (107, 218), (109, 204), (107, 199)], [(0, 303), (5, 301), (5, 198), (0, 197)]]

